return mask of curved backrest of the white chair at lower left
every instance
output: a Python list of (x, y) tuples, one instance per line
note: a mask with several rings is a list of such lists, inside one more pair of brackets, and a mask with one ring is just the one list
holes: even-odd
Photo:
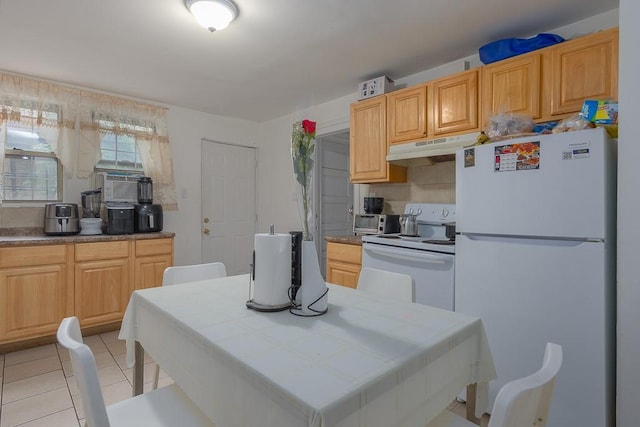
[(87, 416), (87, 425), (110, 427), (104, 403), (96, 360), (91, 349), (83, 344), (80, 323), (77, 317), (67, 317), (58, 327), (58, 342), (69, 350), (73, 375), (76, 378), (80, 398)]

